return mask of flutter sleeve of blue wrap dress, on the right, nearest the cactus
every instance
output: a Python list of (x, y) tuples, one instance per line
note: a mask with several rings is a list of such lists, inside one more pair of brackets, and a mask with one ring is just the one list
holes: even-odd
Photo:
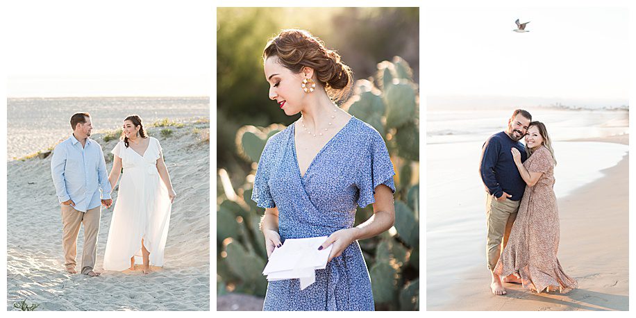
[(376, 201), (374, 194), (378, 185), (387, 185), (395, 193), (393, 181), (395, 171), (393, 170), (393, 163), (389, 157), (387, 145), (380, 133), (374, 131), (362, 154), (358, 169), (358, 181), (356, 183), (360, 190), (360, 197), (358, 198), (358, 206), (360, 208), (364, 208), (369, 203)]

